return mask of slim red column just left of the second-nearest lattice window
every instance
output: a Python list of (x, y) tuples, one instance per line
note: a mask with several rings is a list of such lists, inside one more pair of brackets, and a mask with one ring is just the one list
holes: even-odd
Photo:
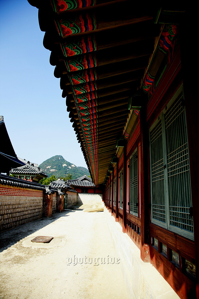
[(123, 223), (122, 231), (127, 231), (127, 141), (124, 140), (123, 159)]

